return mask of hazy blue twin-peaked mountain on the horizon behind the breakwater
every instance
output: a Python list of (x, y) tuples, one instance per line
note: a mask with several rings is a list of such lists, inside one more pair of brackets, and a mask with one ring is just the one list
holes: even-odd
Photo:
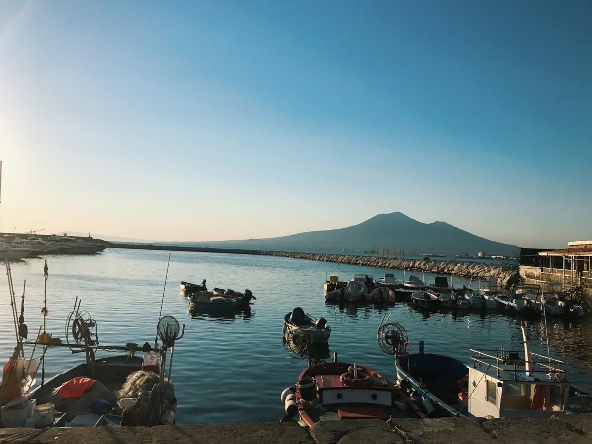
[(288, 236), (236, 241), (183, 242), (186, 245), (311, 253), (362, 253), (374, 246), (405, 248), (406, 254), (453, 253), (512, 255), (516, 245), (491, 241), (446, 222), (423, 223), (401, 212), (380, 214), (358, 225)]

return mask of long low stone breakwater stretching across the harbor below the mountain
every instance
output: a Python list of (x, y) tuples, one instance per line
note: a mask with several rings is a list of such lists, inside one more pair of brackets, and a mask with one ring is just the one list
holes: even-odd
[[(95, 239), (100, 241), (100, 239)], [(102, 241), (105, 242), (105, 241)], [(313, 261), (333, 262), (337, 264), (361, 265), (365, 267), (378, 267), (385, 269), (413, 270), (421, 273), (451, 274), (462, 277), (489, 277), (498, 278), (503, 286), (509, 286), (518, 278), (518, 266), (512, 263), (484, 263), (477, 261), (455, 260), (422, 260), (401, 259), (387, 257), (372, 257), (351, 254), (330, 253), (297, 253), (295, 251), (266, 251), (266, 250), (241, 250), (237, 248), (210, 248), (210, 247), (185, 247), (179, 245), (154, 245), (154, 244), (108, 244), (111, 248), (137, 248), (140, 250), (168, 250), (168, 251), (201, 251), (204, 253), (230, 253), (253, 254), (278, 257), (291, 257)]]

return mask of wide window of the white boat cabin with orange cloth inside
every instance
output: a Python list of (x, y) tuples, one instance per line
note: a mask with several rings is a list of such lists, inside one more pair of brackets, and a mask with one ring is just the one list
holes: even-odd
[(504, 382), (501, 395), (504, 410), (564, 411), (565, 384)]

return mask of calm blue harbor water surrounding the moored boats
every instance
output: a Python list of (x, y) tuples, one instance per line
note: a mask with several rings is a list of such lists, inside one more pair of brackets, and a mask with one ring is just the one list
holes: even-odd
[[(49, 280), (48, 328), (65, 339), (66, 317), (76, 296), (98, 322), (101, 344), (153, 343), (165, 279), (166, 251), (106, 250), (96, 255), (47, 256)], [(20, 300), (23, 280), (25, 323), (30, 338), (43, 322), (43, 259), (12, 264), (12, 276)], [(370, 366), (394, 379), (394, 359), (381, 352), (376, 333), (382, 315), (400, 322), (413, 350), (420, 340), (426, 352), (449, 354), (469, 362), (469, 349), (514, 347), (522, 351), (520, 318), (491, 313), (451, 312), (422, 314), (406, 304), (384, 308), (325, 304), (323, 282), (336, 264), (255, 255), (173, 252), (170, 260), (163, 315), (175, 316), (186, 325), (176, 344), (172, 379), (178, 395), (178, 423), (227, 421), (276, 421), (282, 417), (281, 391), (293, 385), (306, 359), (282, 346), (284, 315), (295, 306), (327, 319), (332, 327), (330, 349), (340, 360)], [(340, 278), (353, 273), (384, 275), (384, 269), (339, 267)], [(3, 273), (4, 274), (4, 273)], [(395, 271), (403, 276), (402, 271)], [(252, 290), (258, 298), (250, 310), (233, 315), (188, 312), (179, 282), (208, 280), (214, 286)], [(426, 276), (427, 279), (427, 276)], [(454, 278), (455, 285), (468, 280)], [(14, 347), (14, 324), (9, 308), (6, 278), (0, 284), (0, 362), (4, 365)], [(542, 321), (528, 325), (535, 352), (543, 352)], [(568, 362), (572, 378), (592, 391), (592, 327), (590, 318), (576, 321), (548, 320), (551, 354)], [(98, 354), (101, 356), (101, 354)], [(61, 372), (79, 362), (81, 354), (50, 349), (46, 375)]]

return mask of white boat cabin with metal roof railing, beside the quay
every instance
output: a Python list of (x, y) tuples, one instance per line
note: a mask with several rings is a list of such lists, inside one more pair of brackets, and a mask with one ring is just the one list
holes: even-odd
[[(516, 352), (497, 356), (473, 352), (469, 369), (468, 410), (472, 416), (545, 419), (565, 410), (570, 383), (563, 362), (530, 353), (526, 361)], [(494, 352), (491, 352), (494, 353)]]

